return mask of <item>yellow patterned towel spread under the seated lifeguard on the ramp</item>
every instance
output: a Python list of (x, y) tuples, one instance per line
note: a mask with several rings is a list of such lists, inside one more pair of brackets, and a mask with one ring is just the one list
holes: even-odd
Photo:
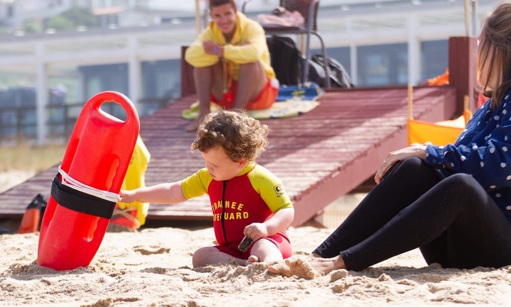
[[(307, 113), (319, 105), (318, 101), (309, 100), (286, 100), (275, 102), (271, 107), (260, 110), (245, 110), (245, 113), (255, 119), (287, 118), (296, 117)], [(219, 111), (222, 107), (211, 102), (211, 112)], [(196, 101), (190, 105), (189, 109), (184, 109), (181, 113), (184, 119), (194, 120), (199, 116), (199, 102)]]

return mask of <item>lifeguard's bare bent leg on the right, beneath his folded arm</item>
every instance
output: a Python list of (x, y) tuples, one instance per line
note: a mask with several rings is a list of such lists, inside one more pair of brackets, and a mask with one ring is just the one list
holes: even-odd
[(260, 61), (240, 64), (234, 108), (246, 109), (249, 101), (258, 98), (267, 81), (266, 72)]

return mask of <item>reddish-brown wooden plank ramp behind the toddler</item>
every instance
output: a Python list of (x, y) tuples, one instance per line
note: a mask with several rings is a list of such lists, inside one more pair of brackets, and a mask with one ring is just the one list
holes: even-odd
[[(417, 87), (413, 96), (416, 119), (454, 115), (454, 87)], [(184, 97), (141, 120), (141, 136), (151, 153), (147, 185), (177, 181), (204, 166), (200, 153), (189, 149), (195, 134), (183, 131), (188, 121), (181, 111), (193, 101), (194, 96)], [(405, 87), (332, 91), (320, 102), (307, 114), (264, 121), (270, 145), (259, 163), (283, 180), (296, 209), (294, 226), (373, 176), (387, 152), (406, 145)], [(56, 172), (55, 166), (0, 194), (0, 217), (20, 217), (37, 193), (48, 198)], [(174, 206), (152, 204), (148, 220), (211, 216), (203, 196)]]

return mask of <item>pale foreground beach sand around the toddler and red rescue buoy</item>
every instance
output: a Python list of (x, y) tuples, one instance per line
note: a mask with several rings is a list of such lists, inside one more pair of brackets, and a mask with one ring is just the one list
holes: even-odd
[[(297, 257), (331, 229), (291, 228)], [(191, 256), (214, 245), (212, 228), (107, 232), (85, 268), (36, 264), (38, 233), (0, 235), (0, 305), (48, 306), (417, 306), (510, 305), (511, 266), (442, 269), (419, 250), (362, 272), (310, 280), (268, 272), (265, 264), (192, 269)]]

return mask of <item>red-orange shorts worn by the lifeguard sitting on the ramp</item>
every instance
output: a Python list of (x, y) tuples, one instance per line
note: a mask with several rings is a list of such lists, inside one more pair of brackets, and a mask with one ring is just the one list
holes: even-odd
[[(255, 98), (255, 100), (248, 102), (246, 106), (247, 110), (269, 108), (277, 99), (278, 89), (271, 86), (271, 80), (268, 77), (266, 80), (266, 85), (263, 87), (263, 90), (258, 97)], [(236, 102), (236, 93), (238, 93), (238, 82), (233, 81), (229, 91), (225, 93), (224, 97), (220, 101), (218, 101), (214, 95), (211, 95), (211, 101), (225, 107), (226, 109), (231, 109), (234, 107)]]

